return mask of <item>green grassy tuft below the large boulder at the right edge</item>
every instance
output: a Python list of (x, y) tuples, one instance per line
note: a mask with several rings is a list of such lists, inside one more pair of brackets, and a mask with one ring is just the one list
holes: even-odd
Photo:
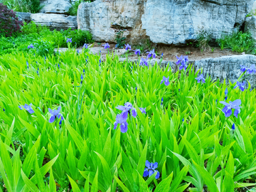
[(224, 48), (230, 48), (232, 51), (238, 53), (254, 53), (255, 52), (255, 40), (252, 39), (251, 34), (248, 32), (243, 33), (238, 31), (232, 35), (223, 36), (218, 39), (217, 42), (221, 50)]

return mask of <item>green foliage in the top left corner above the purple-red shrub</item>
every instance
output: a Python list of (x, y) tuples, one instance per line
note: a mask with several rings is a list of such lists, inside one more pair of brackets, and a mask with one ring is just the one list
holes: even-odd
[(40, 0), (2, 0), (9, 9), (19, 12), (30, 12), (36, 14), (43, 8)]

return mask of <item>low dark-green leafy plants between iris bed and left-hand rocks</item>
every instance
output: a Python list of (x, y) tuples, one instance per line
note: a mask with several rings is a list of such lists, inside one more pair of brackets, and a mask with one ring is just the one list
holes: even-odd
[[(41, 56), (53, 54), (54, 48), (67, 48), (67, 38), (72, 38), (72, 46), (83, 46), (84, 43), (92, 43), (92, 34), (89, 31), (65, 30), (50, 31), (47, 26), (36, 26), (35, 23), (26, 23), (22, 33), (14, 37), (0, 38), (0, 55), (16, 53), (19, 50), (23, 53), (33, 52)], [(28, 49), (33, 43), (35, 49)], [(36, 52), (35, 52), (36, 50)]]

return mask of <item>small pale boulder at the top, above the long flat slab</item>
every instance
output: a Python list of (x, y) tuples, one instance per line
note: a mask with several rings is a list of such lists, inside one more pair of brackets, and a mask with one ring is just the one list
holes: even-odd
[(40, 13), (44, 14), (68, 14), (68, 10), (72, 6), (68, 0), (43, 0), (41, 1), (43, 8)]

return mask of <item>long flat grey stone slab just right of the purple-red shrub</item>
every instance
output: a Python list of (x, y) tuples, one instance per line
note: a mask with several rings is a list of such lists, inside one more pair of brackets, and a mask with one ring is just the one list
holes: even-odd
[(37, 25), (48, 26), (50, 29), (77, 29), (77, 17), (63, 14), (31, 14), (31, 21)]

